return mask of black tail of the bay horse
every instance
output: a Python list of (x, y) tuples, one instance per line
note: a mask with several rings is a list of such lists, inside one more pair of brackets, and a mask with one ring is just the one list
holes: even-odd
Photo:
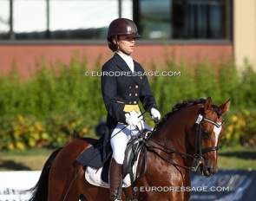
[(29, 201), (47, 201), (48, 199), (48, 181), (49, 181), (49, 170), (50, 167), (56, 158), (58, 152), (62, 150), (62, 147), (56, 149), (56, 151), (52, 152), (49, 156), (49, 159), (46, 160), (45, 164), (43, 165), (43, 170), (40, 175), (39, 180), (37, 181), (36, 185), (32, 187), (30, 192), (32, 192), (32, 196)]

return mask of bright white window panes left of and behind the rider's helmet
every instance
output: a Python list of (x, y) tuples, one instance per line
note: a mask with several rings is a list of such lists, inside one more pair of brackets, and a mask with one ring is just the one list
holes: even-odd
[[(10, 38), (10, 0), (0, 0), (0, 39)], [(13, 33), (19, 39), (105, 39), (120, 15), (119, 0), (13, 0)], [(132, 0), (121, 1), (132, 18)]]

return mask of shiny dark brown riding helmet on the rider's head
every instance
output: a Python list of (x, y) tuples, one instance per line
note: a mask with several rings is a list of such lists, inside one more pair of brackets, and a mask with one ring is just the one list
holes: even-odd
[(112, 21), (112, 23), (108, 26), (108, 48), (115, 52), (118, 47), (113, 42), (113, 38), (117, 40), (117, 36), (126, 35), (126, 36), (133, 36), (135, 38), (141, 37), (138, 34), (138, 29), (136, 24), (129, 19), (126, 18), (118, 18)]

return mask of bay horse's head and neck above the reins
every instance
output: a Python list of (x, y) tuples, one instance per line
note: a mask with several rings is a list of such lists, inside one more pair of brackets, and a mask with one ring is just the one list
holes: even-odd
[[(229, 105), (227, 100), (220, 107), (215, 106), (210, 97), (177, 103), (155, 127), (148, 148), (177, 170), (178, 167), (192, 171), (200, 168), (203, 176), (212, 177), (218, 171), (217, 153), (225, 133), (222, 114), (228, 111)], [(161, 153), (171, 153), (170, 158)]]

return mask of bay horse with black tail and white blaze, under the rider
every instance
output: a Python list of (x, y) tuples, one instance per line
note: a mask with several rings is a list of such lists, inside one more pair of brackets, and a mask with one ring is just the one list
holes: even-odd
[[(189, 200), (190, 172), (198, 171), (206, 178), (218, 171), (220, 139), (225, 133), (223, 113), (230, 100), (220, 107), (211, 97), (177, 103), (155, 126), (147, 143), (147, 171), (135, 179), (134, 189), (127, 193), (136, 200)], [(86, 166), (75, 159), (97, 139), (74, 139), (52, 152), (43, 166), (36, 185), (30, 189), (30, 201), (107, 201), (108, 188), (89, 184)], [(121, 192), (122, 200), (126, 195)]]

